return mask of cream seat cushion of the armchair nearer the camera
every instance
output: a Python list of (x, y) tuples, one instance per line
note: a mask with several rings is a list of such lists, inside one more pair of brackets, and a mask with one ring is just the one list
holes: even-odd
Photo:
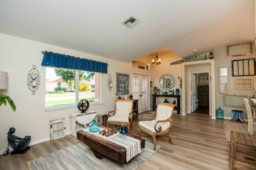
[[(152, 132), (152, 133), (156, 133), (155, 131), (155, 124), (156, 124), (156, 120), (152, 120), (152, 121), (139, 121), (139, 126), (143, 127), (145, 129), (147, 129), (148, 131)], [(158, 129), (158, 127), (161, 126), (162, 127), (162, 132), (166, 131), (169, 126), (170, 126), (170, 122), (159, 122), (156, 125), (156, 129)]]

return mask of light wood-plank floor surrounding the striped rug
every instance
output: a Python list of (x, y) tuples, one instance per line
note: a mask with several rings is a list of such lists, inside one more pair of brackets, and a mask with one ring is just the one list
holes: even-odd
[[(153, 113), (149, 111), (148, 113)], [(140, 115), (139, 115), (140, 117)], [(191, 113), (186, 116), (174, 113), (172, 141), (161, 135), (156, 144), (161, 148), (138, 170), (228, 170), (229, 152), (223, 119), (211, 119), (209, 115)], [(138, 135), (138, 120), (133, 120), (133, 135)], [(143, 133), (143, 132), (142, 132)], [(144, 133), (145, 134), (145, 133)], [(153, 143), (151, 136), (143, 139)], [(30, 146), (25, 154), (0, 156), (0, 170), (28, 170), (26, 162), (62, 148), (80, 143), (71, 135), (54, 141)], [(153, 148), (152, 148), (153, 149)], [(100, 161), (100, 160), (99, 160)]]

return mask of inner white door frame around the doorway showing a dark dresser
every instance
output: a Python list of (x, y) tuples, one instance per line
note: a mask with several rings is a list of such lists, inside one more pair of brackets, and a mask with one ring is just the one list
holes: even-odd
[[(189, 72), (189, 91), (191, 92), (192, 89), (191, 89), (191, 74), (196, 74), (196, 73), (208, 73), (209, 74), (209, 115), (212, 115), (212, 98), (211, 98), (211, 72), (210, 71), (200, 71), (200, 72)], [(198, 79), (198, 77), (196, 76), (196, 78)], [(191, 113), (191, 110), (192, 110), (192, 101), (191, 101), (191, 98), (189, 99), (189, 113)]]

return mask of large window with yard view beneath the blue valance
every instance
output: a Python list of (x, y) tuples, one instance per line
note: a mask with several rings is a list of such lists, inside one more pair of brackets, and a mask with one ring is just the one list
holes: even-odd
[(46, 111), (77, 107), (86, 99), (102, 104), (102, 73), (46, 67)]

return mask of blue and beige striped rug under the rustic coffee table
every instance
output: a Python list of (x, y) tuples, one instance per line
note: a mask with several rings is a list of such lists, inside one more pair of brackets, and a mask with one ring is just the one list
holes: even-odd
[[(156, 151), (160, 149), (156, 146)], [(154, 144), (146, 141), (142, 152), (128, 163), (119, 163), (110, 158), (98, 159), (92, 149), (84, 143), (52, 152), (27, 162), (29, 170), (135, 170), (145, 162), (154, 151)]]

